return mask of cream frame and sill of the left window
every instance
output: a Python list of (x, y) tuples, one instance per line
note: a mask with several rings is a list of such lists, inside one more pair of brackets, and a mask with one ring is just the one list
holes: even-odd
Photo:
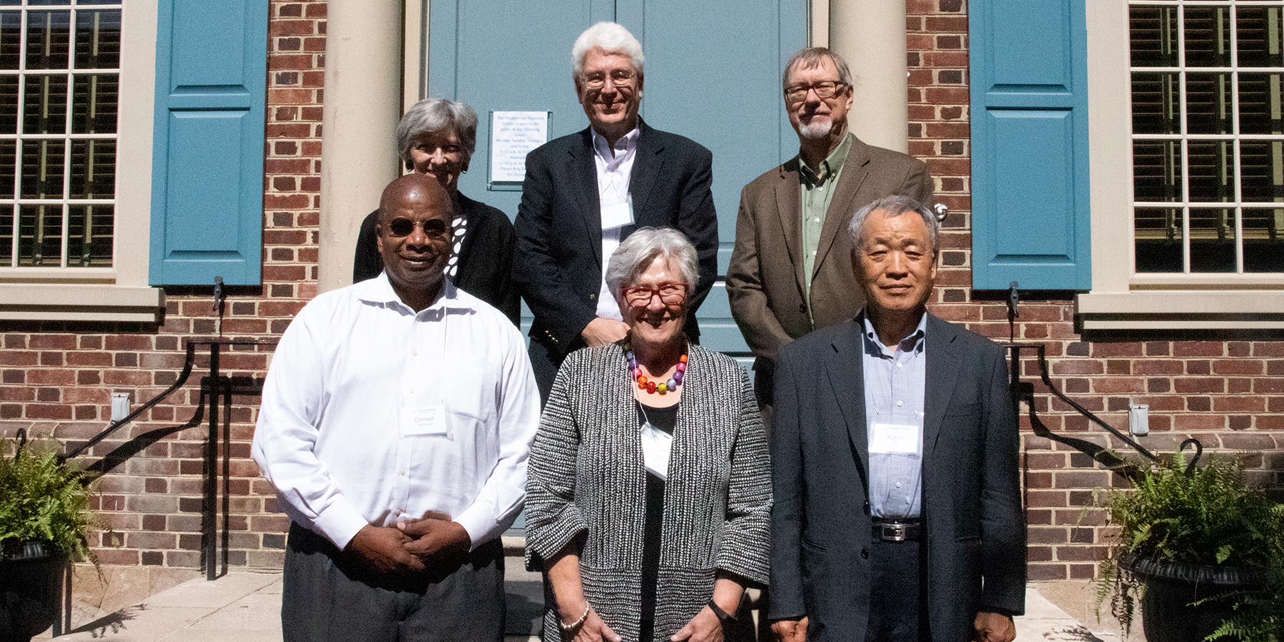
[(158, 5), (122, 5), (112, 267), (3, 267), (0, 321), (163, 321), (148, 285)]

